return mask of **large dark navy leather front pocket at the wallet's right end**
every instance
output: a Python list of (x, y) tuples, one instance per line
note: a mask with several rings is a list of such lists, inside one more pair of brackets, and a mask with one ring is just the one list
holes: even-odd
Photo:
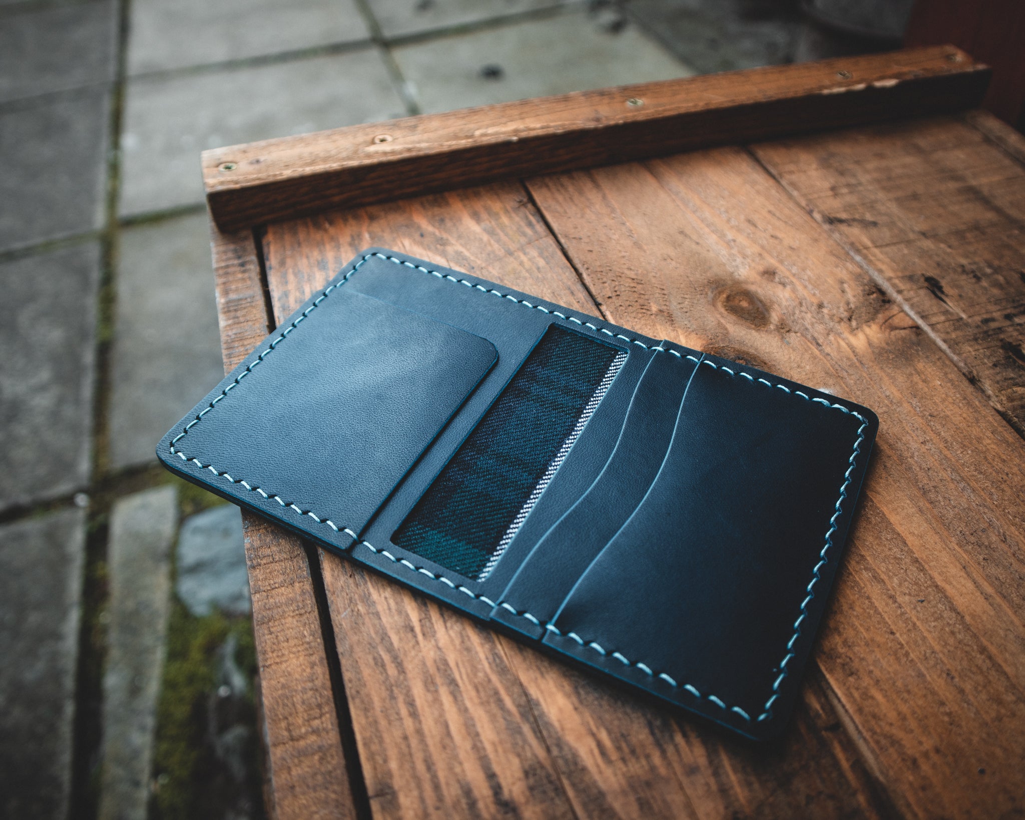
[(757, 734), (807, 658), (875, 422), (745, 370), (697, 367), (657, 477), (544, 640)]

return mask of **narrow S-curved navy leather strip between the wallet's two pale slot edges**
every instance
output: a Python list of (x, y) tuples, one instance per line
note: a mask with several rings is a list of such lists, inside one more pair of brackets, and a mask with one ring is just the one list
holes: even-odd
[[(666, 346), (666, 345), (663, 345)], [(570, 589), (644, 498), (669, 448), (696, 359), (668, 353), (651, 357), (633, 391), (612, 454), (590, 487), (538, 540), (498, 599), (492, 617), (534, 633), (555, 618)]]

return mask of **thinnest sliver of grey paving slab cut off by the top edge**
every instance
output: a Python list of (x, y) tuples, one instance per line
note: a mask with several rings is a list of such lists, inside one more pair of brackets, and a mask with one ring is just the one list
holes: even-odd
[(368, 5), (381, 33), (399, 37), (555, 8), (563, 0), (368, 0)]

